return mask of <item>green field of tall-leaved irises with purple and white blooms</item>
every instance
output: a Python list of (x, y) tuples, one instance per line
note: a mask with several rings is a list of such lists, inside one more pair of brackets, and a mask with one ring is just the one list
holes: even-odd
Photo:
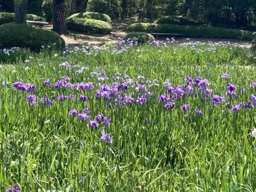
[(256, 52), (169, 41), (6, 52), (0, 191), (256, 189)]

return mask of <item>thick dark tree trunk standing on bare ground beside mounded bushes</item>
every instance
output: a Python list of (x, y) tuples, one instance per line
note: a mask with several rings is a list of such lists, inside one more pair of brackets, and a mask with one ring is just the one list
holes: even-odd
[(53, 16), (54, 31), (59, 34), (67, 34), (65, 22), (65, 0), (54, 0)]

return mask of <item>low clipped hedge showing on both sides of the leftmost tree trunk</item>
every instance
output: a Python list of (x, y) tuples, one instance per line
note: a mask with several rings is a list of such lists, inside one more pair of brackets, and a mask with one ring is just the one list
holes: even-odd
[[(27, 14), (27, 20), (32, 20), (36, 22), (45, 22), (45, 19), (32, 14)], [(15, 13), (5, 13), (0, 12), (0, 25), (5, 23), (15, 22)]]

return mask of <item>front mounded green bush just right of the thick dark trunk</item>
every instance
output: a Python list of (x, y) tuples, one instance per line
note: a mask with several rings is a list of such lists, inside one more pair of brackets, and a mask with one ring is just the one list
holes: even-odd
[(86, 33), (108, 34), (112, 31), (112, 26), (109, 23), (103, 22), (101, 20), (77, 17), (66, 19), (66, 26), (68, 30), (81, 31)]

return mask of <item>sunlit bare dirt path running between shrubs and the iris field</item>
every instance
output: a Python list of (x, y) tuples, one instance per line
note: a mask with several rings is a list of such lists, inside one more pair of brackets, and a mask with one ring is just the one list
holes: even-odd
[[(76, 31), (70, 31), (69, 35), (62, 35), (61, 37), (65, 40), (66, 44), (73, 46), (80, 46), (83, 44), (99, 45), (101, 42), (117, 43), (118, 37), (123, 37), (126, 34), (126, 28), (130, 24), (140, 23), (135, 20), (112, 20), (113, 32), (108, 35), (104, 34), (88, 34)], [(52, 25), (46, 26), (48, 29), (52, 29)], [(162, 39), (164, 40), (164, 39)], [(186, 38), (179, 38), (178, 42), (188, 42)], [(190, 41), (204, 41), (208, 42), (209, 39), (191, 38)], [(213, 40), (213, 41), (227, 41), (227, 40)], [(236, 41), (230, 40), (231, 44), (237, 44), (243, 48), (250, 48), (250, 41)]]

